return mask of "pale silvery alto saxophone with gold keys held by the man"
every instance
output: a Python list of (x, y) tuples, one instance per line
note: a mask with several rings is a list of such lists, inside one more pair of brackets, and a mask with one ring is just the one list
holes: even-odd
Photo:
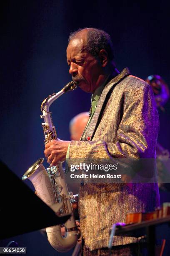
[[(42, 115), (40, 117), (44, 118), (42, 127), (45, 135), (45, 144), (57, 139), (57, 133), (52, 122), (51, 112), (49, 111), (50, 105), (65, 92), (74, 90), (76, 86), (77, 82), (71, 81), (60, 92), (53, 93), (42, 102)], [(59, 215), (71, 214), (70, 219), (65, 223), (65, 237), (61, 234), (60, 225), (46, 228), (47, 238), (51, 246), (57, 251), (67, 252), (77, 243), (77, 226), (71, 205), (74, 197), (72, 192), (68, 192), (62, 163), (58, 162), (56, 166), (50, 166), (46, 171), (42, 164), (43, 160), (43, 158), (37, 160), (25, 172), (22, 179), (30, 179), (35, 187), (37, 196), (47, 205), (50, 207), (56, 203), (60, 205)]]

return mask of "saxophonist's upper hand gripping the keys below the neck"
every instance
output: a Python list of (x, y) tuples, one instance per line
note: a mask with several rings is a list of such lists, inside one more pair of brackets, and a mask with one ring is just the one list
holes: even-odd
[(59, 161), (65, 161), (70, 141), (54, 140), (45, 144), (45, 157), (48, 164), (55, 166)]

